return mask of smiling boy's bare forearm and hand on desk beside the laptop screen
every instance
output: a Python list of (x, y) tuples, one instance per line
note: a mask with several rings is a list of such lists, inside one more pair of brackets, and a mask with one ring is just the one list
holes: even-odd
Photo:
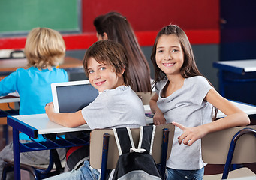
[(51, 102), (45, 106), (45, 112), (50, 121), (65, 127), (77, 127), (86, 124), (82, 115), (82, 110), (77, 111), (76, 113), (54, 113), (53, 102)]

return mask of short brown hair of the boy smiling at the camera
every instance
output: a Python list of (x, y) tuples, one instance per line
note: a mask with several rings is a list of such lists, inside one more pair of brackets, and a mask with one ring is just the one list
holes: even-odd
[(110, 65), (116, 74), (122, 72), (125, 69), (122, 77), (126, 86), (131, 86), (131, 77), (128, 69), (128, 60), (125, 55), (123, 46), (119, 43), (113, 42), (113, 40), (100, 40), (92, 44), (89, 49), (86, 50), (86, 54), (83, 58), (83, 68), (85, 69), (86, 76), (88, 77), (88, 62), (89, 58), (95, 58), (98, 63)]

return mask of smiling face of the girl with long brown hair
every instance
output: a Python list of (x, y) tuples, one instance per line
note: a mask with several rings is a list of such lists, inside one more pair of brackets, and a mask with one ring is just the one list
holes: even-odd
[(156, 46), (155, 61), (161, 71), (168, 75), (180, 74), (184, 62), (184, 52), (175, 34), (162, 35)]

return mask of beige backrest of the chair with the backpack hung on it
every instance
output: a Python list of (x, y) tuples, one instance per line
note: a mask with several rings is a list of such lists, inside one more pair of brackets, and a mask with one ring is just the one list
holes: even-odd
[[(161, 124), (156, 126), (155, 139), (152, 148), (152, 157), (155, 163), (161, 162), (161, 142), (163, 136), (163, 129), (170, 130), (169, 142), (167, 150), (167, 159), (170, 157), (170, 151), (173, 145), (174, 126), (173, 124)], [(109, 150), (107, 157), (107, 169), (115, 169), (117, 160), (119, 159), (119, 151), (116, 146), (116, 140), (112, 129), (92, 130), (90, 139), (90, 165), (95, 169), (101, 169), (101, 157), (103, 146), (104, 133), (110, 134)], [(134, 145), (137, 147), (140, 136), (140, 128), (131, 129), (131, 133), (134, 139)]]

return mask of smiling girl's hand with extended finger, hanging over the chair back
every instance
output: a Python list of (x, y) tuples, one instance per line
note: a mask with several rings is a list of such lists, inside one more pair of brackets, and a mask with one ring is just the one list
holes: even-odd
[(203, 138), (206, 135), (205, 130), (203, 130), (202, 126), (197, 127), (185, 127), (182, 124), (173, 121), (173, 125), (179, 127), (179, 129), (183, 130), (181, 136), (178, 137), (179, 144), (182, 143), (184, 145), (192, 145), (197, 139)]

